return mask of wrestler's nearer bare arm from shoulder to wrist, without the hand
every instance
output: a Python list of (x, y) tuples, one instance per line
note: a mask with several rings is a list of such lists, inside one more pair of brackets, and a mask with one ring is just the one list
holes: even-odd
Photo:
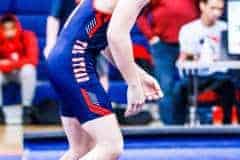
[(119, 0), (107, 33), (112, 59), (129, 85), (140, 83), (130, 31), (146, 3), (147, 0)]

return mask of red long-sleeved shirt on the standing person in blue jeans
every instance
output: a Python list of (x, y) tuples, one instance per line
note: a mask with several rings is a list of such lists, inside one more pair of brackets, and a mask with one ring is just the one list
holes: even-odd
[(138, 25), (148, 39), (158, 36), (164, 42), (178, 43), (180, 28), (199, 16), (198, 0), (153, 0)]

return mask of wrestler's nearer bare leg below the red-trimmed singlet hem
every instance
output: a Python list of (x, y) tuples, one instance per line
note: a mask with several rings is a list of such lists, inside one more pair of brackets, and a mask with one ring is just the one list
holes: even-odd
[(79, 160), (117, 160), (123, 153), (123, 138), (114, 114), (89, 121), (83, 128), (96, 144)]

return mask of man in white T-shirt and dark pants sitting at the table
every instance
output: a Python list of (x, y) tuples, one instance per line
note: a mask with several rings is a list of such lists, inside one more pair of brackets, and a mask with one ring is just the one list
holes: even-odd
[[(220, 21), (224, 0), (200, 0), (201, 18), (182, 27), (180, 31), (180, 58), (184, 61), (201, 61), (203, 63), (220, 60), (220, 36), (227, 29), (225, 22)], [(184, 124), (188, 103), (188, 80), (181, 80), (175, 88), (176, 124)], [(210, 88), (219, 96), (219, 105), (224, 110), (224, 123), (231, 122), (231, 108), (234, 104), (234, 85), (225, 73), (199, 71), (199, 90)]]

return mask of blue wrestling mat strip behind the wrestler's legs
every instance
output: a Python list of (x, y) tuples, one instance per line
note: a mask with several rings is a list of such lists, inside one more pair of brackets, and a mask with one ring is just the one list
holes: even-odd
[[(129, 128), (123, 133), (125, 152), (120, 160), (240, 159), (239, 128)], [(24, 158), (58, 160), (67, 147), (63, 133), (27, 133)]]

